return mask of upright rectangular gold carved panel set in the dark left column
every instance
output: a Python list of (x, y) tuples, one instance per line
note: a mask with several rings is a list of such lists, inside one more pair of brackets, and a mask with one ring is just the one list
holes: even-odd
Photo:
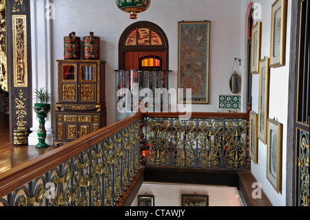
[(28, 86), (26, 15), (13, 14), (14, 87)]

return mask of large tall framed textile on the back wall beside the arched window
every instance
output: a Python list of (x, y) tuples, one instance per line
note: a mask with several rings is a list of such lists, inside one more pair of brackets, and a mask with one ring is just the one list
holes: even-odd
[(178, 103), (209, 103), (210, 21), (178, 23)]

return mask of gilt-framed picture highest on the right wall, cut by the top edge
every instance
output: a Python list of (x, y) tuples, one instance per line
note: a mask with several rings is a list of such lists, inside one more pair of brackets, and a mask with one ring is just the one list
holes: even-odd
[(276, 0), (271, 6), (270, 67), (285, 65), (287, 0)]

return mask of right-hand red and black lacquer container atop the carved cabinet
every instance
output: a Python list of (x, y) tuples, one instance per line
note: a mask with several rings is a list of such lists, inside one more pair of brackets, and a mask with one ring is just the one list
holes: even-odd
[(84, 59), (100, 59), (100, 37), (94, 37), (94, 32), (90, 32), (90, 36), (85, 36)]

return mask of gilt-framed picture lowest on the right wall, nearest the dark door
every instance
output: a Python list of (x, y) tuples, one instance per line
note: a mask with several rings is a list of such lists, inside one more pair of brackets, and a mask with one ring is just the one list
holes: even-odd
[(268, 119), (267, 179), (279, 193), (282, 188), (282, 124)]

